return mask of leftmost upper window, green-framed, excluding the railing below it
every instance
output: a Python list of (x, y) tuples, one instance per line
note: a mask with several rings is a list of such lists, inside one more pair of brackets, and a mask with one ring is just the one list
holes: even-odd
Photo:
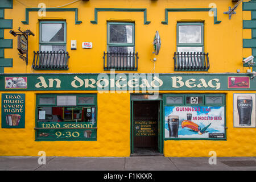
[(40, 22), (40, 51), (66, 51), (66, 22)]

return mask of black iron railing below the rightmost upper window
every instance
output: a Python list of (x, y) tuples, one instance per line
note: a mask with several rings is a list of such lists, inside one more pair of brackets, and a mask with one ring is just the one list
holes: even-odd
[(210, 68), (209, 53), (174, 52), (175, 71), (208, 71)]

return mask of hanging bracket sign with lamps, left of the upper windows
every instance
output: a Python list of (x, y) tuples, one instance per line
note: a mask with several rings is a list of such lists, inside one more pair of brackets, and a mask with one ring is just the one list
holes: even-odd
[[(13, 36), (18, 35), (18, 51), (19, 51), (19, 58), (23, 59), (23, 61), (26, 61), (26, 64), (28, 63), (28, 36), (32, 35), (35, 36), (33, 32), (30, 30), (21, 31), (20, 27), (18, 28), (18, 32), (15, 32), (13, 30), (10, 30), (10, 34)], [(26, 57), (23, 56), (26, 53)]]

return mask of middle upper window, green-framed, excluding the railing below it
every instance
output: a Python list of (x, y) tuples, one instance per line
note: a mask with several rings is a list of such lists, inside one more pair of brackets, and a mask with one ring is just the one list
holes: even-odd
[(134, 23), (108, 23), (108, 52), (134, 52)]

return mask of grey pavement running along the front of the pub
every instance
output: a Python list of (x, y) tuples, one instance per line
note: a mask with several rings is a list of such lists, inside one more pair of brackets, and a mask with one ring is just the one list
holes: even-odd
[(164, 156), (46, 157), (0, 156), (0, 171), (256, 171), (256, 157), (202, 158)]

